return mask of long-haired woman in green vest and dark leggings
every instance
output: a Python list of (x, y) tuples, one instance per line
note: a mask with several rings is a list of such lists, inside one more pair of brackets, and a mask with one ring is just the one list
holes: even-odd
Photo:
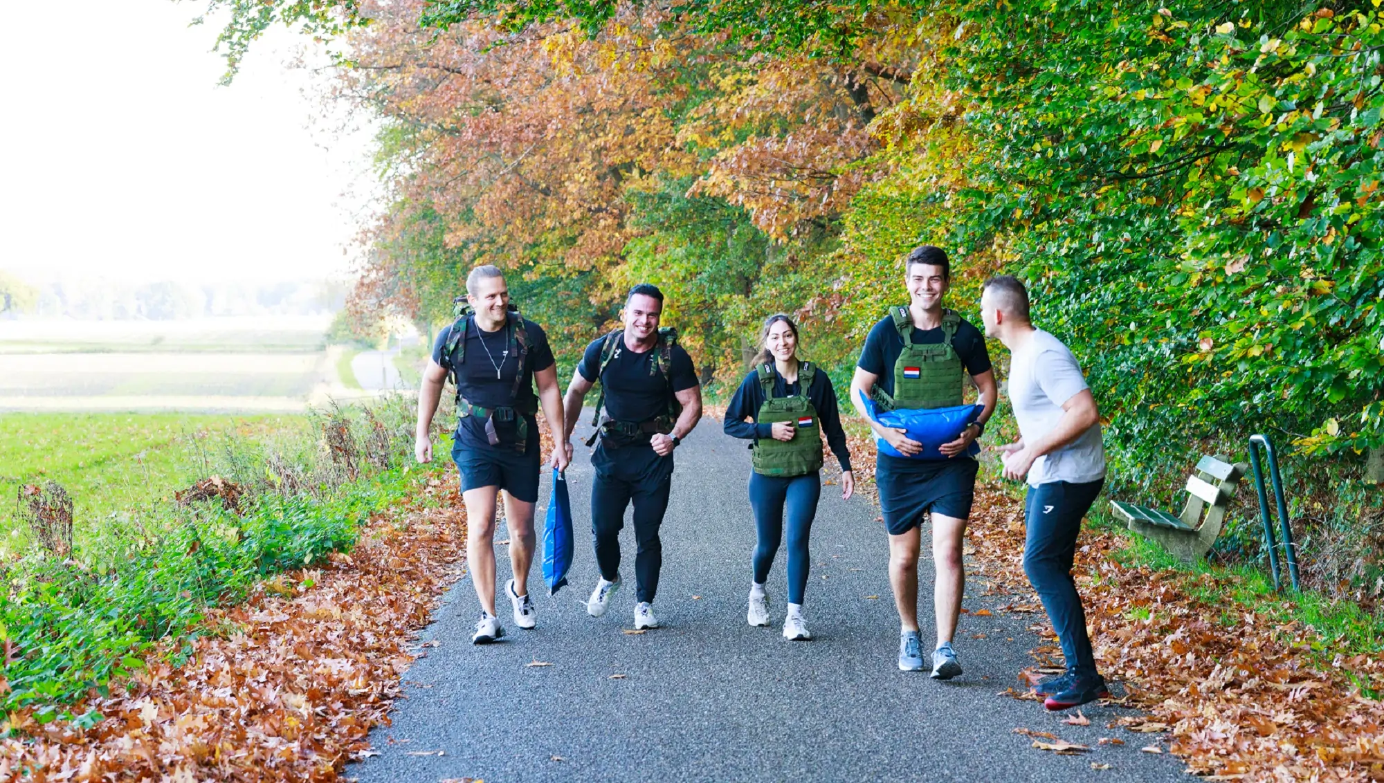
[[(836, 408), (836, 392), (826, 372), (797, 358), (797, 325), (779, 313), (764, 322), (754, 369), (735, 392), (725, 411), (725, 433), (754, 441), (750, 506), (757, 544), (747, 618), (768, 625), (764, 582), (783, 537), (787, 510), (787, 613), (783, 636), (811, 639), (803, 623), (803, 593), (811, 564), (807, 540), (822, 492), (822, 433), (841, 463), (841, 497), (855, 491), (851, 458)], [(807, 380), (804, 389), (803, 380)], [(749, 421), (747, 421), (749, 419)]]

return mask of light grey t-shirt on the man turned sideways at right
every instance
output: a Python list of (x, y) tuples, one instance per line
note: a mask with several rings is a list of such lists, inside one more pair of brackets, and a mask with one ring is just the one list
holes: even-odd
[[(1052, 432), (1064, 412), (1062, 405), (1085, 389), (1086, 379), (1077, 357), (1057, 338), (1034, 329), (1028, 344), (1016, 350), (1009, 362), (1009, 401), (1019, 421), (1019, 434), (1032, 443)], [(1028, 484), (1081, 484), (1104, 476), (1106, 448), (1100, 422), (1096, 422), (1077, 440), (1035, 459), (1028, 469)]]

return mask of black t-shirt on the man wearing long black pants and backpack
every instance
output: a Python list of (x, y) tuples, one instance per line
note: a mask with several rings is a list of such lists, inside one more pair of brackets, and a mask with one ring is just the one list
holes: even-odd
[[(598, 338), (581, 356), (577, 372), (581, 378), (605, 387), (605, 412), (621, 422), (646, 422), (668, 412), (668, 380), (656, 368), (657, 347), (635, 353), (621, 339), (605, 372), (601, 372), (601, 346), (606, 338)], [(692, 357), (682, 346), (673, 346), (670, 375), (673, 392), (684, 392), (698, 385)], [(597, 378), (599, 375), (601, 378)]]

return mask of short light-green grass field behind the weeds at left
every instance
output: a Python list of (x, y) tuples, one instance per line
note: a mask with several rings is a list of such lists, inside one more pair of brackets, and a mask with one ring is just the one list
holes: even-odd
[(72, 495), (78, 540), (95, 520), (172, 497), (206, 477), (203, 458), (226, 436), (262, 439), (302, 416), (198, 414), (0, 414), (0, 553), (28, 535), (15, 510), (21, 483), (51, 479)]

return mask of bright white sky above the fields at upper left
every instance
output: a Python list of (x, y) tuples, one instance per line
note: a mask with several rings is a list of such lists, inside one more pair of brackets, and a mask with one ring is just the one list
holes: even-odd
[(0, 268), (30, 282), (345, 275), (372, 192), (370, 130), (313, 120), (325, 79), (285, 65), (309, 43), (288, 30), (217, 86), (217, 28), (188, 26), (205, 8), (6, 4)]

